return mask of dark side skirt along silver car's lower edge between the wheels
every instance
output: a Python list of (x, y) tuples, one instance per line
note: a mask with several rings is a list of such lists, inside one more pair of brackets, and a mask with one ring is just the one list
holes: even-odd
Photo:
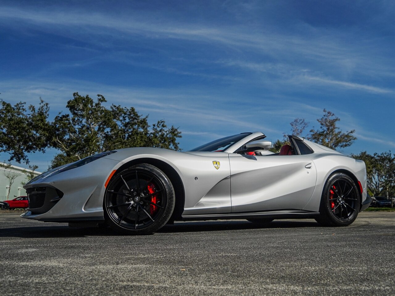
[(229, 213), (229, 214), (200, 214), (182, 215), (182, 221), (197, 220), (225, 220), (247, 218), (273, 218), (273, 219), (309, 219), (319, 216), (319, 212), (303, 210), (278, 210), (265, 212)]

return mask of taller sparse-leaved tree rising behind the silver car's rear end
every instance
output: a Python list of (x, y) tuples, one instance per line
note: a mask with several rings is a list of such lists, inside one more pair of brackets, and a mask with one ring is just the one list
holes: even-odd
[(324, 109), (324, 116), (317, 119), (320, 123), (320, 129), (310, 129), (311, 134), (308, 139), (333, 150), (336, 150), (338, 147), (344, 148), (352, 145), (357, 139), (352, 135), (355, 130), (342, 133), (339, 127), (336, 126), (339, 120), (340, 118), (336, 117), (331, 111)]

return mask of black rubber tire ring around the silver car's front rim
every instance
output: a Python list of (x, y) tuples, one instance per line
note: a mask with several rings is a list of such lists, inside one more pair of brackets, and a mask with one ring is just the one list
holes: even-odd
[[(111, 190), (114, 182), (117, 180), (117, 177), (122, 174), (129, 173), (130, 171), (134, 170), (146, 170), (150, 174), (154, 174), (158, 180), (161, 182), (163, 188), (165, 189), (166, 193), (166, 206), (162, 212), (162, 215), (158, 217), (154, 223), (150, 224), (146, 228), (143, 229), (129, 229), (119, 225), (113, 218), (113, 215), (109, 213), (109, 209), (107, 209), (107, 199), (108, 199), (108, 190)], [(175, 192), (173, 185), (171, 184), (170, 179), (166, 176), (166, 174), (158, 169), (157, 167), (150, 165), (148, 163), (141, 163), (138, 165), (134, 165), (128, 169), (122, 170), (121, 172), (116, 173), (110, 180), (109, 184), (104, 193), (103, 199), (103, 212), (104, 212), (104, 219), (107, 225), (109, 225), (112, 229), (122, 234), (128, 235), (144, 235), (144, 234), (151, 234), (152, 232), (157, 231), (158, 229), (162, 228), (167, 221), (170, 219), (171, 214), (173, 213), (175, 206)]]

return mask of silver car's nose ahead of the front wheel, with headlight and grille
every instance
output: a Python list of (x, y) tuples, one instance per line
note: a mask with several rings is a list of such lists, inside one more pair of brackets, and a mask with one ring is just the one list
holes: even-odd
[(102, 219), (105, 181), (110, 172), (122, 164), (102, 157), (81, 167), (26, 184), (26, 191), (36, 192), (35, 207), (28, 208), (21, 217), (59, 222)]

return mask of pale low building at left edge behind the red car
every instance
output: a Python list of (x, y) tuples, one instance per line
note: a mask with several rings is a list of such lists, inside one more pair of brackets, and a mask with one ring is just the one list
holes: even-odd
[[(22, 167), (16, 167), (11, 165), (9, 168), (5, 168), (6, 163), (0, 163), (0, 201), (8, 199), (15, 199), (15, 197), (26, 196), (26, 190), (23, 189), (23, 184), (28, 182), (28, 176), (26, 172), (33, 172), (29, 169)], [(33, 172), (34, 176), (38, 176), (41, 172)], [(11, 181), (11, 186), (10, 186)], [(10, 190), (11, 189), (11, 190)]]

